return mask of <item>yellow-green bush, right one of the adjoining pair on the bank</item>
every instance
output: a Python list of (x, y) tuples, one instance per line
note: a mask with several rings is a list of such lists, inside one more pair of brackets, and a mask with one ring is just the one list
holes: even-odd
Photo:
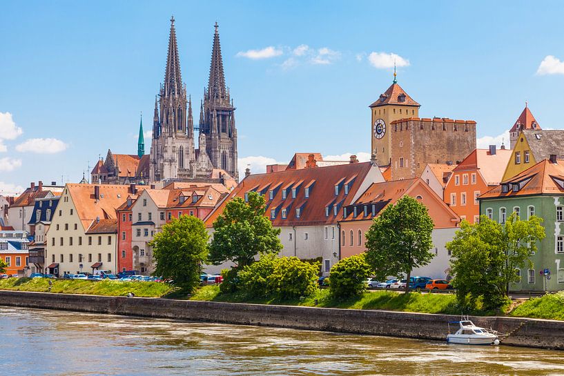
[(280, 299), (306, 297), (317, 290), (319, 263), (300, 261), (298, 257), (276, 259), (269, 279)]

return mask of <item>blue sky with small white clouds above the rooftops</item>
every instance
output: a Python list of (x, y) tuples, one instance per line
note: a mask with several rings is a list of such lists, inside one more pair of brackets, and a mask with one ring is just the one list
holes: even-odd
[(149, 152), (171, 15), (195, 103), (220, 25), (240, 170), (295, 152), (367, 160), (368, 106), (394, 60), (420, 116), (477, 121), (478, 147), (508, 145), (525, 101), (542, 128), (564, 128), (560, 1), (5, 0), (0, 10), (0, 195), (77, 182), (108, 149), (136, 154), (141, 113)]

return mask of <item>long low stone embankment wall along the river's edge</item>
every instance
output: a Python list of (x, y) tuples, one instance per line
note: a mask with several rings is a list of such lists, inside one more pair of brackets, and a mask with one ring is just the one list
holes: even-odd
[[(0, 290), (0, 306), (73, 310), (222, 324), (278, 326), (341, 333), (446, 339), (449, 321), (459, 317), (383, 310), (347, 310), (260, 304), (102, 297)], [(470, 317), (474, 324), (511, 333), (503, 344), (564, 349), (564, 321), (513, 317)]]

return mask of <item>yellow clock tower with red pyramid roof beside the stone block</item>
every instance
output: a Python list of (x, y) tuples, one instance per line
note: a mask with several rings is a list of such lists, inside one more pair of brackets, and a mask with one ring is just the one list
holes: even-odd
[(411, 99), (396, 80), (380, 98), (370, 105), (371, 110), (371, 155), (378, 166), (387, 166), (391, 158), (391, 122), (409, 117), (419, 117), (420, 104)]

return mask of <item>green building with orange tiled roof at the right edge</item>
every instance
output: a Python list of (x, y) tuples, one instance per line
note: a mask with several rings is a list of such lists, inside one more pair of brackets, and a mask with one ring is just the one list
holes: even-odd
[[(500, 224), (516, 212), (521, 219), (541, 217), (546, 237), (518, 270), (521, 280), (512, 290), (563, 290), (564, 288), (564, 161), (543, 159), (520, 174), (481, 195), (480, 213)], [(549, 269), (551, 278), (541, 275)]]

